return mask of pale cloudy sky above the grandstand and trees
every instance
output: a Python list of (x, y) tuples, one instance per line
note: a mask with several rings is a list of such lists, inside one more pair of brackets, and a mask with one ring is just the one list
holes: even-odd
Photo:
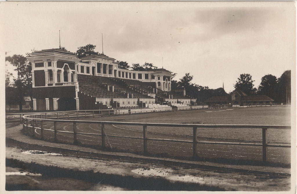
[[(153, 63), (192, 83), (234, 90), (240, 74), (296, 72), (294, 2), (1, 2), (7, 56), (86, 44), (119, 61)], [(4, 29), (4, 30), (3, 30)], [(1, 56), (5, 55), (1, 53)], [(3, 59), (3, 57), (2, 57)], [(9, 71), (13, 71), (8, 66)]]

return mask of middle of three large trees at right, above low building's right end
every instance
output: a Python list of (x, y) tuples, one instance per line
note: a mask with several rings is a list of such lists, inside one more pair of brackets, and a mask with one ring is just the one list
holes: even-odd
[(268, 74), (262, 77), (261, 83), (258, 87), (258, 93), (260, 95), (266, 95), (274, 100), (276, 100), (277, 93), (277, 77)]

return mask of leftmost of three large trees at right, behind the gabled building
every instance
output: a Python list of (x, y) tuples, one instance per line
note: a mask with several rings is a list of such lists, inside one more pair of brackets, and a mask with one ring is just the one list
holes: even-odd
[(256, 88), (253, 84), (252, 76), (250, 74), (240, 74), (236, 84), (234, 85), (235, 90), (241, 90), (247, 95), (253, 95), (256, 93)]

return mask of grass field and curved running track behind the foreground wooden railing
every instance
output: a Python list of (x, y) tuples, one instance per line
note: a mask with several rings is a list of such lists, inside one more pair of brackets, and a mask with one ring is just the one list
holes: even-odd
[[(202, 109), (178, 112), (158, 112), (140, 115), (122, 115), (89, 118), (83, 120), (137, 122), (137, 123), (184, 123), (203, 124), (247, 124), (247, 125), (290, 125), (289, 106), (267, 106), (246, 108)], [(53, 122), (45, 123), (45, 128), (53, 129)], [(57, 123), (59, 131), (73, 131), (73, 123)], [(148, 138), (192, 140), (192, 128), (148, 127)], [(100, 124), (77, 123), (77, 132), (101, 134)], [(142, 126), (105, 125), (106, 146), (110, 151), (133, 152), (142, 154)], [(128, 136), (119, 138), (112, 136)], [(40, 138), (40, 130), (36, 131)], [(45, 131), (45, 137), (53, 140), (53, 132)], [(83, 146), (100, 147), (101, 137), (94, 135), (77, 135)], [(290, 130), (268, 129), (268, 142), (290, 143)], [(73, 134), (58, 133), (58, 140), (72, 143)], [(198, 128), (198, 141), (240, 141), (262, 142), (262, 130), (250, 128)], [(192, 144), (183, 142), (148, 141), (150, 155), (161, 157), (191, 158)], [(248, 163), (262, 162), (261, 146), (199, 144), (198, 155), (201, 160), (218, 160), (219, 162)], [(290, 148), (268, 148), (268, 161), (277, 164), (290, 164)]]

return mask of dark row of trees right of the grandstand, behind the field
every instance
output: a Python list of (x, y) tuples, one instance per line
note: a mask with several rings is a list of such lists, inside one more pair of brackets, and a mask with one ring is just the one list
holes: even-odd
[[(200, 86), (192, 83), (193, 76), (186, 73), (180, 81), (171, 80), (171, 89), (185, 89), (186, 95), (197, 98), (197, 102), (203, 104), (212, 96), (228, 96), (224, 88), (209, 89), (208, 86)], [(281, 77), (267, 74), (261, 78), (258, 88), (254, 87), (254, 80), (250, 74), (240, 74), (236, 83), (233, 85), (234, 90), (241, 90), (247, 95), (266, 95), (274, 100), (275, 103), (290, 103), (291, 101), (291, 70), (285, 71)]]

